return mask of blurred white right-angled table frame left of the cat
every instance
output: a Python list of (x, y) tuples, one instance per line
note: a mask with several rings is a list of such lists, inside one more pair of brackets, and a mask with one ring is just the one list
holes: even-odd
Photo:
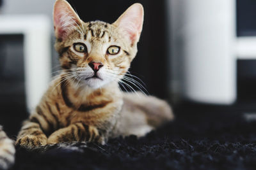
[(0, 15), (0, 34), (24, 34), (28, 111), (38, 104), (51, 79), (50, 23), (44, 15)]

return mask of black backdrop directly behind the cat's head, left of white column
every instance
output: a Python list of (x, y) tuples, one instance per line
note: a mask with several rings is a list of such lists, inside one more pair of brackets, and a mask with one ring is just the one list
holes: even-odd
[(133, 3), (144, 6), (143, 32), (138, 54), (131, 65), (131, 73), (146, 84), (149, 94), (167, 98), (166, 11), (164, 1), (148, 0), (68, 0), (84, 22), (103, 20), (113, 23)]

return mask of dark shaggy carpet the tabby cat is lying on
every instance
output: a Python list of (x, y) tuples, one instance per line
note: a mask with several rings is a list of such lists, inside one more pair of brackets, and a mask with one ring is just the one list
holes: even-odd
[(54, 145), (45, 152), (17, 148), (12, 169), (256, 169), (256, 122), (241, 110), (192, 108), (177, 109), (175, 121), (145, 138)]

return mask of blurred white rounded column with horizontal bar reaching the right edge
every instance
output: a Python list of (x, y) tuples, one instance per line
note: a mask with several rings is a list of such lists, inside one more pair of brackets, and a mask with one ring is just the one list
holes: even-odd
[(173, 90), (193, 101), (236, 101), (236, 60), (255, 59), (256, 38), (236, 37), (236, 0), (170, 0)]

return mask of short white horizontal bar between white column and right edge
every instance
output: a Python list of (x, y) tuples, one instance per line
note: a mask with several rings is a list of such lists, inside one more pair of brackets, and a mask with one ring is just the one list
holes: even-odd
[(237, 59), (256, 59), (256, 36), (237, 38), (236, 56)]

